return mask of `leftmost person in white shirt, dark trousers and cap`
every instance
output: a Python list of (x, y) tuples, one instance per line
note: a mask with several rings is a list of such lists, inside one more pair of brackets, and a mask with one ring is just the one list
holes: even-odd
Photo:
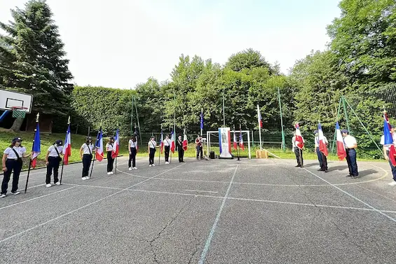
[(7, 196), (8, 182), (10, 181), (11, 173), (13, 173), (13, 187), (11, 193), (18, 195), (18, 182), (19, 175), (22, 169), (22, 158), (27, 158), (31, 154), (26, 154), (26, 148), (21, 145), (22, 139), (15, 137), (11, 145), (6, 148), (3, 153), (2, 165), (3, 165), (3, 182), (1, 183), (0, 197), (4, 198)]

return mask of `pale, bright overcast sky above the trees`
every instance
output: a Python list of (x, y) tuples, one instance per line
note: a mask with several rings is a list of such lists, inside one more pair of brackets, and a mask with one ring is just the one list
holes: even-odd
[[(0, 0), (0, 20), (26, 0)], [(324, 50), (339, 0), (47, 0), (78, 85), (134, 88), (170, 78), (179, 55), (224, 64), (259, 50), (283, 73)]]

